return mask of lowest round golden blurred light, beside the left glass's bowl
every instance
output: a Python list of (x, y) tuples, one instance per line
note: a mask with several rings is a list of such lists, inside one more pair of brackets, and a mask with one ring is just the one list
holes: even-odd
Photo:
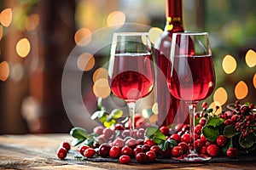
[(101, 78), (98, 79), (94, 85), (93, 85), (93, 93), (96, 95), (98, 98), (107, 98), (108, 95), (111, 93), (111, 89), (108, 85), (108, 79)]

